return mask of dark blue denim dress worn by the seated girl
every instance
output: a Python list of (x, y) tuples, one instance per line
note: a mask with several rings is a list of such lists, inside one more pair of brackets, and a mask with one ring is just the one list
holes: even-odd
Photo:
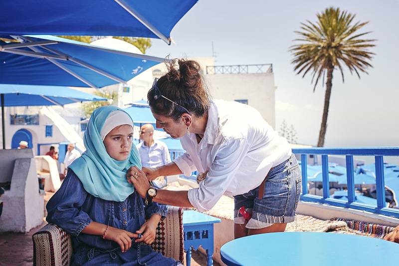
[(152, 203), (146, 207), (136, 192), (123, 202), (96, 198), (84, 190), (79, 178), (69, 170), (46, 209), (46, 221), (58, 225), (72, 236), (71, 265), (177, 265), (175, 260), (153, 251), (144, 243), (132, 243), (132, 247), (122, 253), (113, 241), (81, 233), (92, 221), (134, 233), (153, 214), (166, 216), (165, 205)]

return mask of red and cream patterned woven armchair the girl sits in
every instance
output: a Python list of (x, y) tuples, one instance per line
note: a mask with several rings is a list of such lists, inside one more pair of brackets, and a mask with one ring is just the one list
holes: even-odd
[[(48, 224), (33, 237), (33, 265), (69, 266), (72, 256), (71, 236), (56, 225)], [(168, 215), (158, 224), (154, 251), (183, 263), (183, 209), (168, 207)]]

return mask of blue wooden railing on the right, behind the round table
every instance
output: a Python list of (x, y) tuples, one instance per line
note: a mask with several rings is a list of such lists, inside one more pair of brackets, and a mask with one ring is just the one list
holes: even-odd
[[(399, 209), (387, 208), (385, 202), (384, 156), (399, 156), (399, 148), (298, 148), (292, 149), (296, 155), (301, 155), (302, 195), (305, 202), (318, 202), (368, 211), (376, 214), (399, 218)], [(307, 155), (321, 155), (323, 196), (308, 193)], [(328, 155), (343, 155), (346, 157), (346, 174), (348, 183), (348, 201), (330, 198)], [(377, 207), (355, 202), (355, 179), (353, 156), (374, 156), (376, 164)]]

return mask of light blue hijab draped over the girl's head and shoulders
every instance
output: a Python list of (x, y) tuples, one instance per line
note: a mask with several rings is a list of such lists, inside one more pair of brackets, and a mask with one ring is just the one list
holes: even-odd
[(111, 158), (105, 149), (100, 132), (107, 117), (116, 110), (125, 112), (112, 105), (94, 110), (83, 137), (86, 151), (69, 168), (94, 197), (121, 202), (134, 192), (133, 185), (126, 179), (126, 172), (133, 165), (141, 169), (141, 161), (135, 145), (132, 145), (130, 157), (125, 161)]

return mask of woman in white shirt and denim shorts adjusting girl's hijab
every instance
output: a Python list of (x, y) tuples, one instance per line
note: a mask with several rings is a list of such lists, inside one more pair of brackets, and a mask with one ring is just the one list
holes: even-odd
[[(287, 141), (254, 108), (211, 100), (196, 61), (174, 59), (168, 70), (155, 79), (148, 100), (157, 128), (179, 138), (186, 153), (164, 166), (132, 167), (129, 181), (150, 201), (200, 211), (223, 194), (233, 196), (235, 238), (283, 232), (294, 221), (301, 193), (301, 171)], [(199, 188), (189, 191), (148, 183), (196, 170)]]

